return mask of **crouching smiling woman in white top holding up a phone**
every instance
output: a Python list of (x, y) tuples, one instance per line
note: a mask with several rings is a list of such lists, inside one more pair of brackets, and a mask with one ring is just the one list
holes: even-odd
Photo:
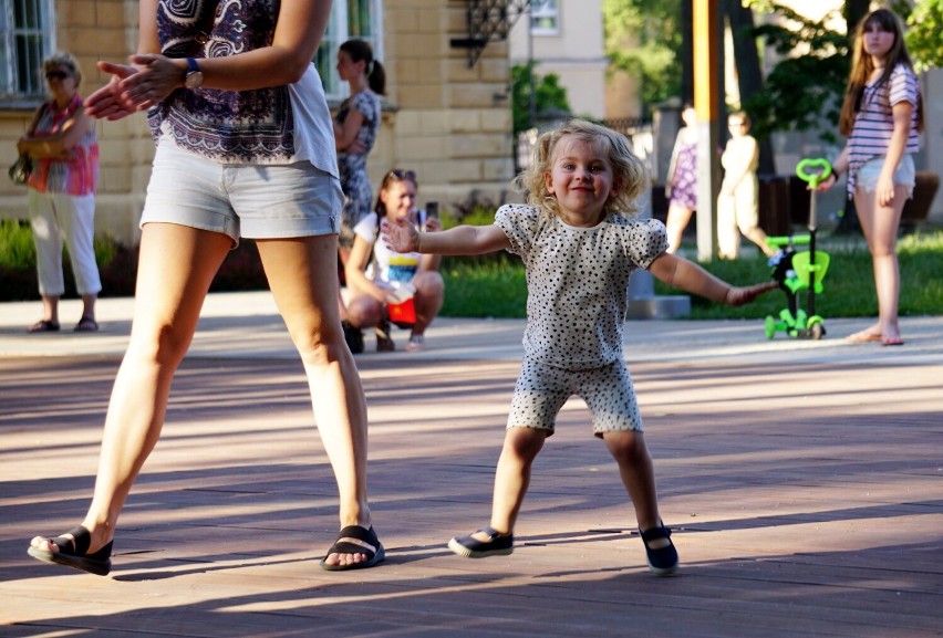
[[(417, 230), (442, 230), (442, 223), (416, 210), (416, 175), (413, 171), (391, 170), (384, 176), (376, 197), (376, 215), (369, 215), (354, 228), (354, 243), (348, 258), (345, 275), (352, 296), (348, 302), (344, 332), (348, 344), (360, 343), (361, 330), (374, 327), (377, 352), (396, 349), (390, 335), (388, 304), (397, 303), (394, 294), (402, 283), (415, 289), (413, 303), (416, 321), (406, 344), (407, 352), (425, 347), (425, 332), (445, 297), (445, 284), (438, 273), (441, 257), (417, 252), (397, 254), (382, 241), (376, 241), (383, 220), (407, 220)], [(353, 334), (352, 334), (353, 333)], [(353, 349), (353, 348), (352, 348)]]

